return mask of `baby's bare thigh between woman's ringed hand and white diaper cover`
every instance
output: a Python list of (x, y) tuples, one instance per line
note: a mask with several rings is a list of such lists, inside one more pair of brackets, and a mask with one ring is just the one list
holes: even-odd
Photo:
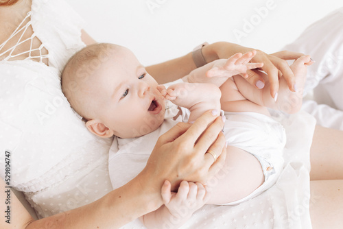
[(255, 156), (230, 145), (226, 150), (224, 167), (206, 184), (211, 191), (207, 204), (227, 204), (241, 200), (263, 184), (262, 167)]

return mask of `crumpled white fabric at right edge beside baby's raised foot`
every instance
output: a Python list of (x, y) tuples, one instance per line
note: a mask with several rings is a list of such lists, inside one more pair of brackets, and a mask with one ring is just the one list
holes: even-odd
[[(304, 92), (315, 88), (314, 100), (303, 110), (316, 117), (318, 125), (343, 130), (343, 8), (310, 25), (284, 50), (311, 55)], [(329, 105), (329, 106), (328, 106)]]

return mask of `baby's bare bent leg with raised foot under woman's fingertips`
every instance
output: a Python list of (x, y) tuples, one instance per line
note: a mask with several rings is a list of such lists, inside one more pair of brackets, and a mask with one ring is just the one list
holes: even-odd
[(255, 111), (265, 113), (266, 109), (273, 108), (292, 114), (297, 112), (303, 101), (303, 86), (306, 80), (307, 65), (311, 65), (309, 56), (302, 56), (290, 66), (296, 77), (296, 92), (289, 91), (285, 78), (281, 77), (279, 95), (270, 96), (270, 84), (265, 75), (263, 89), (255, 88), (241, 76), (235, 75), (232, 80), (227, 80), (222, 87), (222, 109), (226, 111), (241, 112)]

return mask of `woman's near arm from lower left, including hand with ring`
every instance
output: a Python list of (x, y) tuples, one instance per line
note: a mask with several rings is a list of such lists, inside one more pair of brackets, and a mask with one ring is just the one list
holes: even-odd
[[(193, 124), (175, 125), (158, 138), (147, 166), (136, 178), (91, 204), (34, 221), (12, 195), (11, 224), (3, 218), (0, 228), (119, 228), (156, 210), (163, 204), (161, 186), (165, 180), (171, 181), (173, 189), (181, 180), (204, 183), (223, 166), (224, 123), (218, 115), (219, 112), (215, 115), (208, 111)], [(206, 154), (209, 147), (220, 155), (214, 163), (211, 155)], [(6, 208), (4, 191), (5, 183), (1, 180), (1, 209)]]

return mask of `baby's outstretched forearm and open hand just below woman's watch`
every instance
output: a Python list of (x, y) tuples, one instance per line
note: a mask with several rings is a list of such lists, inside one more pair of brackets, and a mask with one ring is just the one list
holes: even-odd
[(249, 62), (255, 55), (256, 50), (253, 50), (244, 54), (236, 53), (228, 59), (215, 60), (191, 71), (189, 75), (182, 77), (182, 80), (189, 83), (211, 83), (220, 87), (233, 75), (248, 77), (248, 69), (263, 67), (263, 63)]

